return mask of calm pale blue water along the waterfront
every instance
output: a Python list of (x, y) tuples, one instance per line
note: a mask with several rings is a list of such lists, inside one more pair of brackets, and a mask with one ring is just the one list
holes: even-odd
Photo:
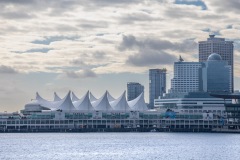
[(8, 133), (0, 159), (240, 159), (240, 134)]

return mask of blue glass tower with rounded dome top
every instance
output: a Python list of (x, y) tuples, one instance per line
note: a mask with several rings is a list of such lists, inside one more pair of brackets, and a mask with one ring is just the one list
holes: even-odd
[(204, 92), (232, 92), (231, 66), (219, 54), (209, 55), (200, 69), (200, 90)]

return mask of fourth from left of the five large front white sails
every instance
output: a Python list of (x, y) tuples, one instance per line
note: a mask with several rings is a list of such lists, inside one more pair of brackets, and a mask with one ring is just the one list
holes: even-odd
[(127, 100), (126, 100), (126, 91), (116, 99), (115, 101), (110, 102), (112, 108), (118, 111), (130, 111), (131, 108), (129, 107)]

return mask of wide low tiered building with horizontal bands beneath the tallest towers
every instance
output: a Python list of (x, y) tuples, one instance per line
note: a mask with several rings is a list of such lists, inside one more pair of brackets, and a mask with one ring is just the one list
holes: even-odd
[(206, 116), (225, 117), (224, 104), (230, 104), (231, 99), (221, 99), (210, 96), (207, 92), (189, 92), (179, 94), (166, 94), (155, 99), (154, 106), (161, 112), (171, 109), (176, 113), (203, 114)]

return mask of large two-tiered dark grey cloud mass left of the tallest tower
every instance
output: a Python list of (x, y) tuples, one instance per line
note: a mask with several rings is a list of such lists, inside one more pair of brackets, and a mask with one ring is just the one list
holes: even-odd
[(123, 36), (118, 48), (120, 51), (137, 51), (135, 54), (128, 56), (126, 64), (143, 67), (173, 64), (177, 58), (174, 54), (170, 54), (169, 51), (178, 53), (193, 52), (197, 48), (197, 43), (193, 39), (171, 42), (155, 38), (137, 39), (135, 36), (129, 35)]

